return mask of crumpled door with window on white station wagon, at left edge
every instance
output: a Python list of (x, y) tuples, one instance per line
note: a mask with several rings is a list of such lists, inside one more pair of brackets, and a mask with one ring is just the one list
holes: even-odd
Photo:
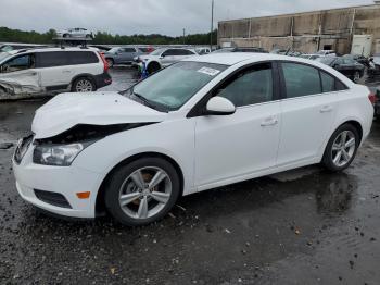
[(36, 69), (36, 54), (17, 55), (1, 64), (0, 83), (14, 92), (41, 92), (40, 73)]

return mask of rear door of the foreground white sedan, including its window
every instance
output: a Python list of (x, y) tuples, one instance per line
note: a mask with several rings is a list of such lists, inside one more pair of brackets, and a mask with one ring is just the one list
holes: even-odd
[(332, 131), (339, 107), (333, 76), (306, 64), (280, 65), (284, 98), (278, 166), (315, 159)]

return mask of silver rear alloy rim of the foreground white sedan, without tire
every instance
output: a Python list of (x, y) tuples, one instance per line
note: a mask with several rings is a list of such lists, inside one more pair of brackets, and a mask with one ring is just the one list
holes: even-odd
[(338, 168), (343, 168), (351, 162), (356, 150), (356, 138), (353, 132), (343, 131), (332, 144), (331, 158)]

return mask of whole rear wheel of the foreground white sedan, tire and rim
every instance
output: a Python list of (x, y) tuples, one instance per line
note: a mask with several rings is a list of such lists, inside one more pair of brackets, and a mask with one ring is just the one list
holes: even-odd
[[(351, 138), (354, 138), (353, 144), (350, 147), (343, 147), (342, 139), (345, 138), (345, 146), (347, 146)], [(343, 136), (343, 137), (342, 137)], [(357, 148), (360, 144), (360, 136), (355, 126), (352, 124), (341, 125), (331, 136), (327, 144), (325, 154), (322, 158), (324, 166), (331, 171), (338, 172), (347, 169), (355, 159)], [(344, 152), (343, 152), (344, 149)], [(339, 154), (341, 152), (341, 154)]]

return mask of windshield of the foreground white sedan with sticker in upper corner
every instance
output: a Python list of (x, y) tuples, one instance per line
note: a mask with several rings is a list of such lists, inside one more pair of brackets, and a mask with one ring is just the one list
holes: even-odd
[[(122, 92), (156, 110), (176, 111), (228, 65), (179, 62)], [(156, 107), (156, 108), (155, 108)]]

